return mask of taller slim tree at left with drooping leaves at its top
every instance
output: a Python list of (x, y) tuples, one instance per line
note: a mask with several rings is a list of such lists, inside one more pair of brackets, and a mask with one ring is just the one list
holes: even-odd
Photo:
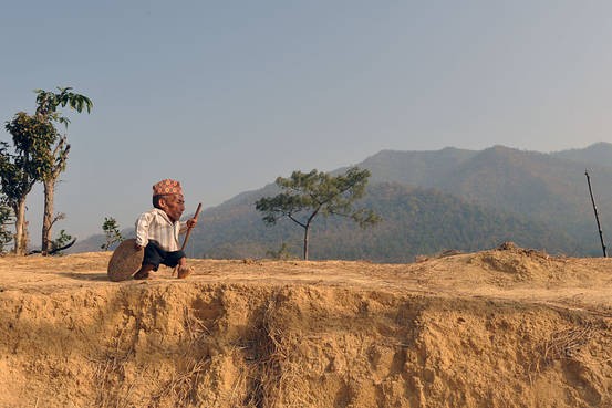
[[(58, 108), (66, 105), (81, 113), (86, 109), (91, 112), (93, 107), (92, 101), (81, 94), (71, 92), (72, 87), (58, 87), (59, 93), (37, 90), (37, 113), (35, 116), (45, 123), (61, 123), (68, 129), (70, 121), (60, 115)], [(60, 174), (65, 170), (70, 144), (66, 142), (66, 136), (56, 137), (52, 143), (48, 144), (48, 149), (44, 151), (45, 166), (42, 172), (42, 182), (44, 186), (44, 211), (42, 218), (42, 245), (41, 252), (43, 255), (51, 250), (51, 229), (53, 223), (59, 219), (53, 216), (53, 202), (55, 195), (55, 185)]]

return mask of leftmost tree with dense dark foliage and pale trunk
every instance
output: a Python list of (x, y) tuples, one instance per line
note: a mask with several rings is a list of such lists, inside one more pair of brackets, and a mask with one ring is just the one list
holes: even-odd
[(12, 136), (12, 149), (9, 144), (0, 143), (0, 182), (7, 205), (14, 213), (14, 252), (24, 254), (25, 198), (34, 184), (41, 181), (43, 174), (49, 171), (46, 151), (56, 140), (58, 133), (48, 121), (24, 112), (17, 113), (4, 127)]

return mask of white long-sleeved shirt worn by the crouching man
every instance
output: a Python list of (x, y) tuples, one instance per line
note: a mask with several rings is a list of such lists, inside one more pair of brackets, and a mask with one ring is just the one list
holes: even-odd
[(136, 244), (146, 247), (148, 241), (157, 241), (164, 251), (178, 251), (178, 236), (185, 231), (186, 222), (173, 222), (164, 210), (154, 208), (136, 220)]

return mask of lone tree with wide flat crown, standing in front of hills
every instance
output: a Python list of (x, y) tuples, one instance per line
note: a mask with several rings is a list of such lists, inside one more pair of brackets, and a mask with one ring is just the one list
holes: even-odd
[(303, 228), (303, 257), (308, 260), (310, 227), (318, 215), (348, 217), (362, 228), (380, 221), (372, 210), (353, 209), (354, 201), (363, 197), (369, 178), (370, 171), (359, 167), (339, 176), (317, 170), (308, 174), (293, 171), (290, 178), (277, 178), (281, 192), (259, 199), (256, 209), (263, 212), (263, 222), (268, 226), (287, 217)]

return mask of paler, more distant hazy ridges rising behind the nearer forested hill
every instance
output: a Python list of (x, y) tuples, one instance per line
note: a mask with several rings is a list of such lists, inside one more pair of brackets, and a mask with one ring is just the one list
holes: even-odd
[[(447, 155), (444, 151), (439, 151), (439, 157)], [(387, 151), (378, 155), (377, 163), (402, 163), (401, 172), (385, 170), (384, 174), (403, 175), (394, 177), (394, 181), (408, 182), (413, 180), (409, 175), (419, 174), (423, 160), (434, 154)], [(612, 145), (598, 144), (557, 154), (495, 146), (474, 154), (464, 153), (461, 157), (461, 160), (450, 160), (452, 166), (444, 171), (431, 172), (432, 177), (421, 185), (563, 230), (582, 242), (585, 249), (582, 254), (601, 252), (584, 169), (589, 167), (591, 171), (604, 231), (606, 227), (612, 229), (612, 188), (602, 184), (612, 179), (612, 167), (604, 166), (612, 164)], [(371, 166), (365, 160), (357, 166), (369, 168), (373, 177), (380, 178), (380, 165)]]

